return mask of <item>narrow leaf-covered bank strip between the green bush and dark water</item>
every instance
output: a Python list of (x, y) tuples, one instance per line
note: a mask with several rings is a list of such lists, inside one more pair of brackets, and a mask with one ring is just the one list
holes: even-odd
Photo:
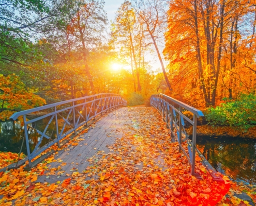
[(197, 127), (197, 136), (223, 136), (231, 138), (256, 139), (256, 126), (251, 127), (246, 131), (229, 126), (199, 125)]

